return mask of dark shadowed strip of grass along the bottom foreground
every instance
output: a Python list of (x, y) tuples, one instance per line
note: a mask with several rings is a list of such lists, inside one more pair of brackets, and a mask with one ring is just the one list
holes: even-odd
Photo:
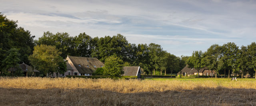
[(102, 89), (0, 88), (1, 105), (255, 106), (256, 89), (206, 88), (120, 93)]

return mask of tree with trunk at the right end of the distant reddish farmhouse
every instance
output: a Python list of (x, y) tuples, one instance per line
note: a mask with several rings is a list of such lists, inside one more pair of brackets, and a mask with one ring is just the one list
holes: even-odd
[[(202, 63), (210, 71), (215, 72), (215, 78), (217, 78), (217, 68), (218, 68), (218, 57), (219, 57), (220, 46), (215, 44), (210, 46), (207, 51), (204, 53), (202, 58)], [(212, 74), (213, 75), (213, 74)]]

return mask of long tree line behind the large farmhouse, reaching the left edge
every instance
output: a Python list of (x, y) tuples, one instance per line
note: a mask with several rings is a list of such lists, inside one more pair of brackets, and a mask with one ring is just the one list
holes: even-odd
[[(50, 72), (60, 72), (65, 70), (60, 69), (64, 66), (60, 60), (66, 59), (67, 55), (96, 57), (103, 63), (108, 57), (114, 55), (123, 61), (123, 66), (141, 66), (146, 74), (163, 75), (164, 73), (178, 73), (185, 67), (185, 60), (188, 58), (172, 55), (164, 51), (161, 45), (155, 43), (138, 45), (129, 43), (121, 34), (93, 38), (86, 33), (73, 37), (66, 32), (47, 31), (36, 40), (30, 31), (18, 27), (17, 23), (0, 13), (1, 75), (8, 75), (8, 69), (18, 67), (18, 64), (22, 62), (34, 65), (44, 75)], [(54, 55), (45, 58), (44, 56), (50, 55), (49, 53)], [(45, 64), (39, 65), (39, 63)], [(46, 63), (51, 63), (51, 65), (46, 65)]]

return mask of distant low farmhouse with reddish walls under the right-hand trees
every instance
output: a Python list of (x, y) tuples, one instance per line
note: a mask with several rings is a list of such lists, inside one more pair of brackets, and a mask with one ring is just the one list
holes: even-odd
[[(180, 75), (180, 72), (177, 73), (178, 75)], [(188, 65), (186, 65), (186, 67), (184, 67), (181, 70), (181, 74), (183, 76), (189, 76), (189, 75), (198, 75), (198, 71), (194, 68), (188, 68)], [(214, 76), (215, 72), (214, 71), (210, 71), (207, 68), (203, 68), (199, 70), (199, 75), (206, 75), (206, 76)]]

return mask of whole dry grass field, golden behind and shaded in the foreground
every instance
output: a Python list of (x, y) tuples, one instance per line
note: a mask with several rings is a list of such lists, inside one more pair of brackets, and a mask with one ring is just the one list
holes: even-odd
[(1, 105), (255, 106), (255, 79), (0, 77)]

